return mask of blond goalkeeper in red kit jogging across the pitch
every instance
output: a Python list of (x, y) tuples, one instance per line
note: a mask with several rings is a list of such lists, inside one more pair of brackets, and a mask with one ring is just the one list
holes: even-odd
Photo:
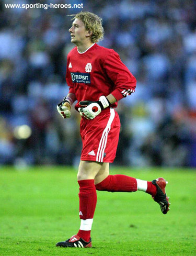
[(69, 29), (71, 42), (76, 45), (67, 55), (66, 82), (70, 87), (57, 110), (63, 118), (70, 118), (75, 108), (82, 116), (80, 135), (83, 149), (77, 180), (79, 184), (80, 228), (76, 235), (60, 247), (91, 247), (90, 230), (99, 191), (144, 191), (152, 195), (163, 214), (169, 210), (166, 181), (158, 178), (152, 182), (126, 175), (110, 175), (109, 163), (116, 157), (120, 120), (116, 107), (118, 101), (135, 92), (136, 79), (122, 63), (117, 52), (98, 46), (103, 38), (101, 18), (89, 12), (73, 17)]

